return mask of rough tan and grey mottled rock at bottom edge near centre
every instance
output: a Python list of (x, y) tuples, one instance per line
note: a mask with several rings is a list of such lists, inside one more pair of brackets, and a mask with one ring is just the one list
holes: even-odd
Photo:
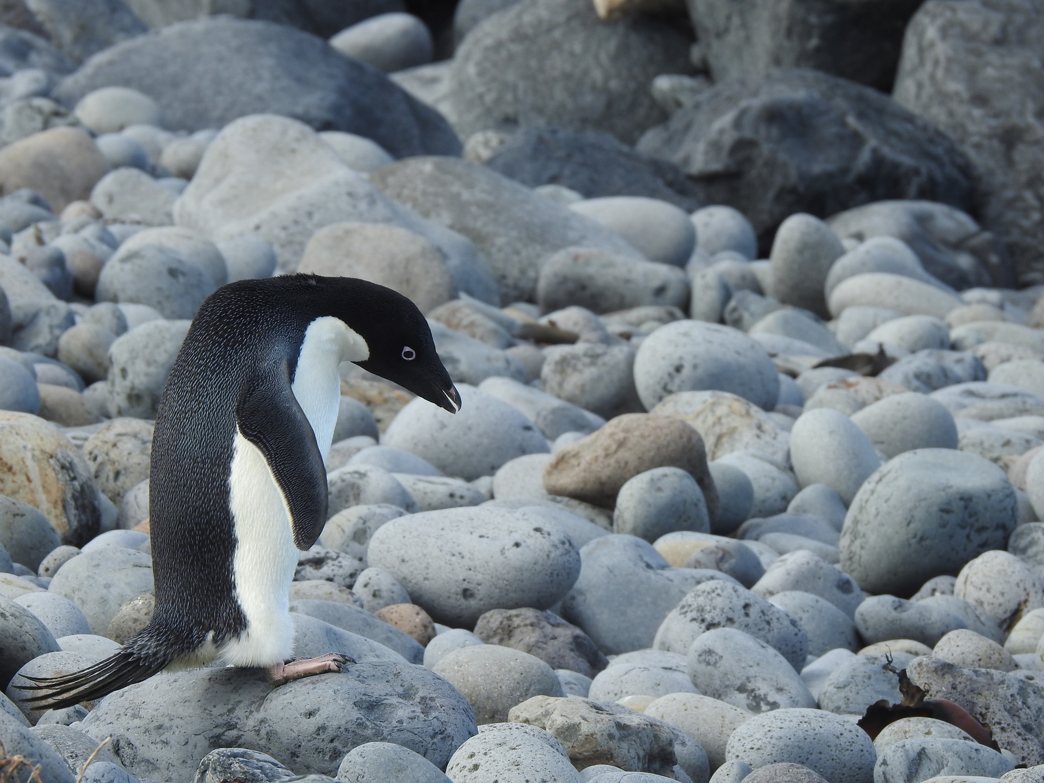
[(507, 719), (551, 734), (577, 769), (611, 764), (673, 777), (678, 763), (670, 727), (617, 704), (533, 696), (513, 707)]

